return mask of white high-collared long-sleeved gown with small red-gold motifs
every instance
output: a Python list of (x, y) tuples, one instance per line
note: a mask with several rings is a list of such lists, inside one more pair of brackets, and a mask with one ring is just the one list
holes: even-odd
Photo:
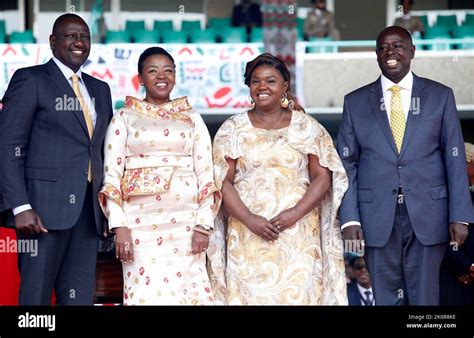
[(127, 97), (107, 130), (104, 162), (99, 199), (109, 227), (132, 229), (124, 305), (213, 304), (206, 255), (190, 252), (193, 227), (213, 226), (219, 195), (201, 116), (186, 98), (155, 106)]

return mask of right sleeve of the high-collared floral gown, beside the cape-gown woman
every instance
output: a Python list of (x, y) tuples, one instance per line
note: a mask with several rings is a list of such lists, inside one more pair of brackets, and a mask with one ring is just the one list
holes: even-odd
[(209, 136), (206, 124), (199, 114), (196, 114), (194, 118), (193, 134), (193, 161), (199, 189), (199, 209), (195, 225), (199, 224), (206, 229), (213, 229), (214, 218), (221, 201), (221, 194), (214, 183), (211, 137)]

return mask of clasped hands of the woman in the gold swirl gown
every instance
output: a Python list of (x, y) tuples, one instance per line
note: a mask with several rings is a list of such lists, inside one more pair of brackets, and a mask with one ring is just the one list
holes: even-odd
[(270, 220), (251, 213), (243, 220), (243, 223), (257, 236), (266, 241), (273, 242), (278, 239), (280, 232), (293, 226), (300, 218), (301, 216), (296, 208), (292, 207), (283, 210)]

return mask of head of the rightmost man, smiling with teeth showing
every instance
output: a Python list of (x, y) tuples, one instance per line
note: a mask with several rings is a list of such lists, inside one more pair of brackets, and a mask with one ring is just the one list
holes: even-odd
[(415, 46), (410, 33), (401, 27), (388, 27), (377, 38), (377, 62), (382, 74), (394, 83), (400, 82), (410, 71)]

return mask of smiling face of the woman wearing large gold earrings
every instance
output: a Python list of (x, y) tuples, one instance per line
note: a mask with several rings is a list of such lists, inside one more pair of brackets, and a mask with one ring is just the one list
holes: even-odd
[(274, 67), (262, 65), (254, 69), (250, 78), (250, 96), (255, 109), (280, 112), (280, 100), (288, 90), (288, 82)]

